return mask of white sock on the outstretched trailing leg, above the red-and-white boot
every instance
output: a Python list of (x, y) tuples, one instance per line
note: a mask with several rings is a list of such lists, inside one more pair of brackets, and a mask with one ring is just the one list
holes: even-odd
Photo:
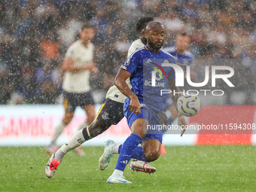
[(60, 149), (62, 150), (62, 152), (64, 154), (66, 154), (70, 150), (82, 145), (84, 142), (85, 142), (85, 139), (83, 136), (83, 130), (79, 130), (77, 133), (75, 133), (74, 136), (72, 136), (71, 139), (69, 139), (68, 142), (66, 142), (64, 145), (62, 145), (62, 147)]

